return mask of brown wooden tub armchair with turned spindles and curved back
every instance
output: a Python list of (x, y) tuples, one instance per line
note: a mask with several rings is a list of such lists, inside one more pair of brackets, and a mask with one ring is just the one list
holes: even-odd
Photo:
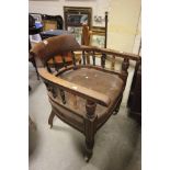
[[(81, 52), (82, 63), (76, 63), (77, 52)], [(71, 54), (73, 63), (70, 66), (66, 65), (66, 53)], [(101, 54), (101, 66), (95, 63), (97, 53)], [(84, 158), (89, 161), (95, 133), (111, 115), (118, 112), (129, 60), (140, 63), (140, 57), (106, 48), (80, 46), (71, 35), (49, 37), (36, 44), (31, 54), (36, 60), (52, 104), (48, 124), (53, 127), (53, 118), (57, 116), (82, 133), (86, 137)], [(52, 69), (48, 66), (54, 55), (63, 56), (63, 68)], [(105, 69), (106, 55), (122, 58), (121, 71)], [(87, 64), (87, 56), (92, 58), (91, 64)]]

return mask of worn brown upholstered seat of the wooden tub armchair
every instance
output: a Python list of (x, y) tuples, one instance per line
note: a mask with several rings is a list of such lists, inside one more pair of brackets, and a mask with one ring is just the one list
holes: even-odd
[[(93, 68), (80, 68), (78, 70), (66, 71), (60, 77), (67, 81), (109, 95), (111, 99), (111, 104), (109, 107), (115, 104), (116, 99), (118, 98), (123, 89), (123, 80), (118, 78), (118, 76), (105, 73)], [(83, 118), (83, 115), (86, 114), (86, 100), (68, 92), (65, 92), (65, 106), (77, 112), (77, 114), (79, 114)], [(61, 104), (60, 95), (58, 95), (58, 98), (56, 98), (55, 100)], [(109, 107), (102, 106), (100, 104), (97, 105), (95, 113), (98, 114), (99, 122), (102, 122), (103, 116), (106, 116), (109, 114), (106, 112)], [(80, 117), (76, 120), (80, 123)]]

